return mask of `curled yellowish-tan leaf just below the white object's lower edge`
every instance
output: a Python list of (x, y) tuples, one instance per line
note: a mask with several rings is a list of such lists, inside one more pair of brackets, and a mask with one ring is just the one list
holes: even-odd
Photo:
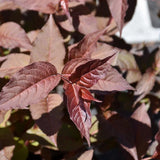
[(122, 72), (127, 71), (126, 79), (129, 83), (135, 83), (141, 79), (141, 72), (132, 54), (121, 52), (118, 55), (117, 64)]

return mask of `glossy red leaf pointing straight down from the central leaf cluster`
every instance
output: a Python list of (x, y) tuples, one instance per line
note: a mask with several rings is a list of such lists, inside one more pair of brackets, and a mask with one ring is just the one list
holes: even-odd
[(68, 84), (65, 94), (70, 119), (77, 126), (82, 136), (90, 145), (89, 129), (91, 127), (90, 102), (82, 100), (79, 96), (80, 87), (77, 84)]

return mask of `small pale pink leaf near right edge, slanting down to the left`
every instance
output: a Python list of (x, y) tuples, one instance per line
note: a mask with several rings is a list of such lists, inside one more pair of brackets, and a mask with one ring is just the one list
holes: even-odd
[(149, 68), (146, 73), (144, 73), (141, 80), (138, 82), (134, 95), (148, 94), (154, 86), (155, 78), (156, 77), (154, 71)]

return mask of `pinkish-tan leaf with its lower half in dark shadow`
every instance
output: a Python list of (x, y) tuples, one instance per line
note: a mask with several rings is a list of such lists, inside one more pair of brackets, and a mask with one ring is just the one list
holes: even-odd
[(59, 94), (49, 94), (48, 97), (41, 100), (37, 104), (30, 106), (32, 118), (35, 120), (39, 128), (48, 136), (55, 145), (54, 135), (58, 132), (62, 125), (63, 102)]

